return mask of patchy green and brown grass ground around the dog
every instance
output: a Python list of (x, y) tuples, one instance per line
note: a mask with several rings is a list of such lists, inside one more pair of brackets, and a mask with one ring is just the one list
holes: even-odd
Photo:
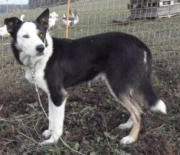
[[(68, 89), (70, 94), (65, 114), (62, 138), (84, 154), (93, 155), (178, 155), (180, 154), (180, 54), (179, 16), (170, 19), (133, 21), (123, 26), (113, 19), (126, 20), (130, 12), (127, 1), (97, 0), (72, 3), (80, 22), (70, 29), (70, 38), (79, 38), (107, 31), (134, 34), (146, 42), (154, 56), (153, 84), (168, 107), (168, 115), (151, 113), (146, 106), (139, 140), (128, 146), (119, 141), (129, 131), (117, 127), (128, 119), (127, 111), (117, 104), (104, 83), (96, 81), (89, 90), (87, 84)], [(65, 13), (66, 6), (54, 6), (51, 11)], [(24, 12), (26, 20), (35, 19), (43, 9)], [(12, 15), (6, 15), (6, 17)], [(20, 16), (20, 14), (16, 14)], [(4, 18), (4, 17), (3, 17)], [(0, 23), (3, 23), (3, 18)], [(54, 29), (56, 37), (64, 37), (61, 23)], [(0, 154), (2, 155), (75, 155), (61, 141), (40, 146), (47, 128), (47, 119), (39, 107), (35, 89), (23, 77), (8, 44), (0, 42)], [(47, 111), (47, 98), (41, 92)]]

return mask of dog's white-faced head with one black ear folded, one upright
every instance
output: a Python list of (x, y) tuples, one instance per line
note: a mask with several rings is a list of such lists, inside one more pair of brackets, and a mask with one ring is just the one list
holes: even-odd
[(49, 9), (46, 9), (35, 21), (22, 22), (16, 17), (4, 20), (16, 48), (23, 55), (39, 57), (46, 54)]

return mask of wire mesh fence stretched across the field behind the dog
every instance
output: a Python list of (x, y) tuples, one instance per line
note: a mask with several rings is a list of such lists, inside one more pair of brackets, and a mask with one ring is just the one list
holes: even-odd
[[(174, 2), (174, 1), (173, 1)], [(5, 8), (1, 14), (0, 25), (3, 24), (5, 17), (25, 15), (24, 20), (34, 20), (47, 7), (51, 12), (58, 14), (58, 21), (50, 33), (55, 37), (65, 37), (66, 26), (63, 24), (63, 14), (67, 13), (67, 1), (29, 1), (26, 4), (4, 4)], [(144, 5), (146, 4), (146, 7)], [(152, 5), (150, 5), (152, 4)], [(156, 5), (155, 5), (156, 4)], [(79, 22), (76, 25), (69, 26), (69, 38), (76, 39), (84, 36), (94, 35), (109, 31), (120, 31), (133, 34), (143, 40), (152, 50), (154, 60), (163, 60), (163, 63), (179, 64), (180, 53), (180, 7), (176, 13), (166, 12), (162, 18), (154, 16), (154, 10), (160, 1), (124, 1), (124, 0), (77, 0), (71, 1), (71, 14), (76, 12)], [(142, 5), (142, 6), (139, 6)], [(154, 6), (153, 6), (154, 5)], [(178, 3), (173, 3), (178, 5)], [(171, 4), (163, 7), (169, 7)], [(146, 18), (144, 10), (152, 9)], [(143, 11), (142, 11), (143, 10)], [(140, 11), (140, 12), (138, 12)], [(133, 12), (133, 16), (132, 16)], [(134, 16), (138, 12), (138, 16)], [(143, 15), (140, 15), (143, 14)], [(152, 17), (150, 16), (152, 14)], [(151, 17), (151, 18), (150, 18)], [(164, 16), (163, 16), (164, 17)], [(114, 38), (116, 39), (116, 38)], [(9, 47), (11, 38), (1, 37), (0, 48), (0, 94), (1, 101), (13, 96), (14, 93), (22, 91), (21, 80), (23, 77), (22, 70), (16, 64), (11, 49)], [(19, 86), (19, 87), (18, 87)], [(21, 88), (20, 88), (21, 87)], [(16, 94), (16, 93), (15, 93)], [(15, 95), (17, 96), (17, 95)], [(9, 98), (11, 100), (11, 97)], [(10, 101), (9, 100), (9, 101)]]

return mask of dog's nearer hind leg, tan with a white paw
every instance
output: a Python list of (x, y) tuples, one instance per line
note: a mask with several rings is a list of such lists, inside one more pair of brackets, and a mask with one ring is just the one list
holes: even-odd
[[(116, 82), (115, 82), (116, 83)], [(130, 144), (138, 139), (138, 134), (141, 126), (141, 108), (138, 101), (131, 97), (131, 89), (126, 86), (126, 83), (122, 82), (119, 85), (113, 84), (113, 80), (106, 81), (106, 84), (115, 97), (115, 99), (121, 103), (130, 113), (130, 120), (128, 120), (128, 127), (131, 128), (131, 132), (128, 136), (122, 138), (122, 144)], [(130, 123), (131, 122), (131, 123)], [(125, 127), (127, 128), (127, 124)], [(122, 125), (121, 125), (122, 126)], [(124, 126), (124, 125), (123, 125)]]

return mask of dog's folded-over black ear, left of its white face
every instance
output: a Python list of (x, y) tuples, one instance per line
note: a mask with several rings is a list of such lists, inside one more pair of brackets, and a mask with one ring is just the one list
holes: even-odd
[(7, 31), (12, 35), (14, 30), (21, 25), (22, 21), (16, 17), (5, 18), (4, 24), (7, 26)]

